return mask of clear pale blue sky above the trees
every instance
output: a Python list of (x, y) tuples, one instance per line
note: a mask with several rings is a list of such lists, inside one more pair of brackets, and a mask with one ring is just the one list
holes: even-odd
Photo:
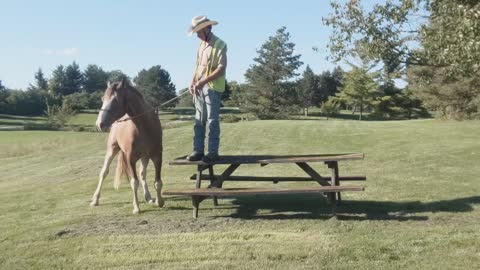
[(75, 61), (131, 78), (160, 65), (180, 90), (193, 74), (199, 39), (187, 29), (197, 15), (219, 22), (213, 32), (228, 46), (228, 80), (244, 82), (257, 49), (282, 26), (302, 55), (299, 72), (307, 64), (315, 73), (335, 67), (326, 60), (327, 0), (10, 0), (0, 11), (0, 80), (8, 88), (26, 89), (39, 68), (49, 78)]

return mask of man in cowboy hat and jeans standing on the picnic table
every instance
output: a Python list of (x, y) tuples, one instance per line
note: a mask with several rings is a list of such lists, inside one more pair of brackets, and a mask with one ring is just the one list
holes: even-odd
[[(197, 33), (201, 40), (197, 52), (197, 64), (189, 92), (195, 102), (195, 126), (193, 152), (189, 161), (203, 160), (206, 163), (218, 160), (220, 144), (220, 98), (225, 91), (227, 45), (212, 33), (212, 25), (218, 22), (206, 16), (192, 19), (188, 35)], [(208, 124), (208, 153), (204, 155), (205, 130)]]

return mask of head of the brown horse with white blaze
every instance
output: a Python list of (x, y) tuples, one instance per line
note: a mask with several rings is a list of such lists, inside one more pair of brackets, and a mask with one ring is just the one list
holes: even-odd
[(102, 109), (100, 109), (95, 123), (99, 130), (107, 130), (113, 122), (127, 113), (127, 90), (129, 88), (131, 86), (125, 78), (120, 82), (108, 82), (102, 97)]

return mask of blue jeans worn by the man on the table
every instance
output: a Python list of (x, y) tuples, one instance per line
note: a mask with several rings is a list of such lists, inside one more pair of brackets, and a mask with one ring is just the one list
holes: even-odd
[(208, 87), (194, 97), (195, 101), (195, 125), (193, 150), (204, 153), (205, 130), (208, 124), (208, 152), (218, 153), (220, 144), (220, 98), (221, 93)]

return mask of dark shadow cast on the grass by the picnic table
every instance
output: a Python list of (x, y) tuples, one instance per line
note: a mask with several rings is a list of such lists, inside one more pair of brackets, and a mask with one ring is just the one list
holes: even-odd
[[(237, 206), (236, 212), (223, 217), (241, 219), (328, 219), (331, 217), (330, 205), (323, 197), (315, 195), (240, 197), (234, 199), (232, 204)], [(480, 196), (425, 203), (343, 200), (337, 207), (337, 218), (359, 221), (425, 221), (428, 220), (428, 216), (417, 214), (469, 212), (473, 210), (472, 204), (480, 204)]]

